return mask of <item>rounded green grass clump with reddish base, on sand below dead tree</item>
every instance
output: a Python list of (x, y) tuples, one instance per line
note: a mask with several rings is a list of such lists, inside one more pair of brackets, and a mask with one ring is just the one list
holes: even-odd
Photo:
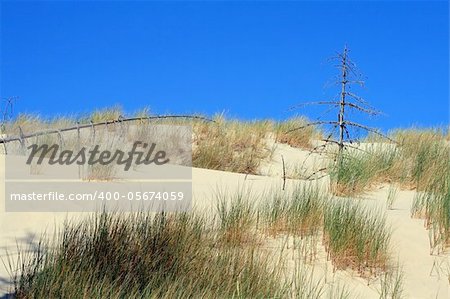
[(386, 270), (390, 232), (384, 216), (335, 200), (325, 208), (323, 237), (336, 269), (351, 268), (363, 276)]

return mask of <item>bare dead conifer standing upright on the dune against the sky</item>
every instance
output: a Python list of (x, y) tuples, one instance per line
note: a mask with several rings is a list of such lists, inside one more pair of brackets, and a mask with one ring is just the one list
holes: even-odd
[[(322, 140), (324, 144), (315, 147), (311, 153), (316, 151), (318, 148), (325, 148), (328, 144), (335, 144), (338, 146), (338, 154), (334, 158), (335, 161), (336, 159), (340, 160), (339, 157), (342, 156), (343, 150), (347, 147), (360, 150), (358, 147), (351, 145), (356, 140), (350, 136), (351, 129), (362, 129), (395, 143), (394, 140), (381, 133), (378, 129), (351, 121), (348, 118), (348, 114), (352, 110), (370, 116), (380, 115), (382, 113), (375, 110), (366, 100), (364, 100), (364, 98), (351, 92), (351, 87), (354, 85), (364, 87), (364, 80), (362, 80), (362, 75), (356, 68), (356, 64), (350, 59), (347, 46), (344, 47), (341, 53), (337, 53), (337, 55), (332, 57), (330, 60), (337, 62), (335, 66), (339, 69), (339, 74), (334, 82), (340, 86), (340, 92), (338, 97), (336, 97), (336, 100), (307, 102), (291, 107), (291, 109), (301, 108), (307, 105), (325, 105), (329, 107), (328, 111), (337, 110), (337, 120), (320, 120), (319, 118), (315, 122), (310, 122), (303, 126), (296, 127), (289, 130), (287, 133), (310, 126), (330, 126), (331, 133), (327, 138)], [(320, 171), (323, 170), (324, 168)], [(317, 171), (314, 172), (313, 175), (316, 173)]]

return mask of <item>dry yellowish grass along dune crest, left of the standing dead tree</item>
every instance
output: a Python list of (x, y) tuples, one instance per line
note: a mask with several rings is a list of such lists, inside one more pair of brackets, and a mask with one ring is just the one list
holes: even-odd
[[(146, 117), (150, 115), (150, 110), (145, 108), (135, 112), (133, 116)], [(45, 119), (37, 115), (24, 114), (6, 123), (4, 133), (9, 136), (18, 136), (20, 135), (20, 129), (25, 134), (29, 134), (47, 129), (76, 126), (77, 121), (81, 124), (101, 123), (117, 120), (124, 116), (125, 112), (118, 106), (99, 109), (81, 117), (67, 116)], [(286, 134), (288, 130), (306, 123), (307, 120), (302, 117), (278, 123), (271, 120), (232, 120), (226, 119), (223, 115), (217, 115), (213, 117), (213, 120), (214, 122), (205, 122), (193, 119), (168, 118), (152, 120), (151, 122), (137, 121), (133, 124), (127, 124), (127, 127), (134, 125), (137, 127), (136, 131), (141, 132), (141, 134), (135, 134), (136, 137), (146, 137), (146, 134), (142, 134), (142, 131), (149, 124), (192, 126), (192, 165), (194, 167), (246, 174), (258, 174), (261, 161), (271, 157), (273, 149), (268, 148), (268, 138), (275, 137), (279, 142), (288, 143), (291, 146), (310, 148), (312, 138), (319, 135), (317, 130), (312, 127)], [(121, 126), (116, 124), (108, 125), (107, 129), (108, 131), (116, 131), (119, 127)], [(49, 135), (49, 138), (46, 141), (51, 143), (63, 142), (65, 145), (72, 146), (76, 144), (75, 133), (63, 133), (60, 136), (53, 134)]]

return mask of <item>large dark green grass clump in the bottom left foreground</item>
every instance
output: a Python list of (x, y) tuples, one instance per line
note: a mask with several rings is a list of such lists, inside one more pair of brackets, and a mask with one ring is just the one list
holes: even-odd
[(217, 247), (189, 214), (101, 213), (67, 223), (23, 261), (15, 298), (267, 298), (285, 288), (261, 255)]

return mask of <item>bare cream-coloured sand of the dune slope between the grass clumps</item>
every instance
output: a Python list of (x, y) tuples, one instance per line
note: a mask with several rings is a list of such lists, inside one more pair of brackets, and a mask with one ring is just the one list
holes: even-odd
[[(261, 166), (262, 176), (226, 173), (214, 170), (192, 170), (194, 206), (210, 213), (214, 210), (213, 193), (220, 190), (232, 192), (241, 187), (250, 187), (255, 192), (267, 188), (280, 188), (282, 179), (281, 155), (287, 165), (303, 164), (308, 153), (293, 149), (287, 145), (277, 145), (272, 161)], [(320, 157), (309, 158), (306, 167), (312, 169), (320, 162)], [(0, 167), (1, 177), (4, 178), (4, 167)], [(269, 176), (270, 175), (270, 176)], [(326, 178), (324, 178), (326, 182)], [(298, 183), (288, 180), (288, 188)], [(388, 186), (368, 193), (364, 198), (357, 199), (364, 204), (386, 210)], [(423, 221), (410, 217), (410, 206), (414, 191), (399, 191), (393, 209), (386, 210), (387, 221), (393, 229), (392, 252), (393, 259), (398, 260), (404, 272), (405, 298), (450, 298), (449, 280), (450, 256), (430, 255), (428, 233), (423, 227)], [(58, 224), (69, 217), (83, 217), (84, 215), (71, 213), (5, 213), (4, 195), (0, 194), (0, 256), (5, 260), (5, 249), (14, 256), (16, 244), (20, 246), (33, 245), (37, 238), (46, 231), (53, 233)], [(268, 241), (268, 248), (279, 250), (282, 238)], [(286, 270), (292, 271), (296, 258), (293, 250), (286, 250), (283, 254), (289, 256)], [(332, 266), (326, 260), (323, 248), (319, 248), (319, 259), (314, 263), (315, 279), (322, 279), (328, 284), (346, 285), (356, 298), (379, 298), (379, 279), (369, 282), (359, 278), (349, 271), (333, 273)], [(8, 274), (0, 263), (0, 298), (6, 292)]]

